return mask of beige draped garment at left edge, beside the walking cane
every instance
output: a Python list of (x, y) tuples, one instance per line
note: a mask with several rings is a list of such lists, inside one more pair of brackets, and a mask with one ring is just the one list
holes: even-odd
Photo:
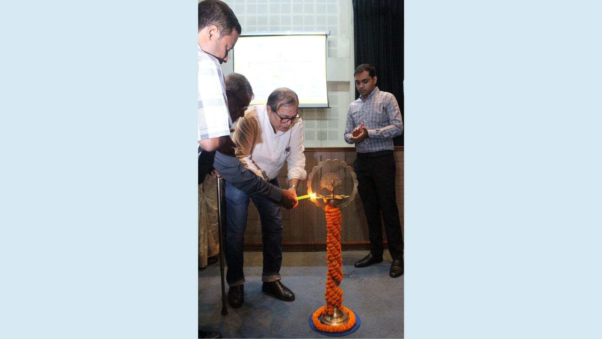
[(199, 185), (199, 267), (207, 265), (207, 258), (219, 253), (217, 230), (217, 179), (207, 174)]

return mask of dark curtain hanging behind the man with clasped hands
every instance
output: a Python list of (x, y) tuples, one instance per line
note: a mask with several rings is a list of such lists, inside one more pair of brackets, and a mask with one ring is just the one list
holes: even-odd
[[(353, 0), (355, 67), (376, 69), (376, 86), (393, 93), (403, 115), (403, 0)], [(355, 98), (359, 98), (355, 90)], [(405, 119), (403, 120), (405, 133)], [(393, 139), (403, 146), (403, 135)]]

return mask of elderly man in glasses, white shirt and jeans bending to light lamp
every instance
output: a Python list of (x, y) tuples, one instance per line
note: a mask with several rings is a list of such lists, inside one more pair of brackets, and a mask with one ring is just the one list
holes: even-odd
[[(297, 195), (297, 187), (307, 176), (303, 151), (303, 121), (297, 113), (299, 98), (288, 88), (276, 89), (264, 105), (252, 106), (238, 120), (234, 132), (236, 156), (243, 165), (273, 185), (287, 162), (288, 191)], [(261, 290), (285, 301), (295, 299), (282, 285), (282, 212), (280, 206), (265, 197), (249, 196), (226, 182), (226, 261), (228, 302), (234, 308), (243, 305), (243, 241), (247, 225), (249, 197), (259, 212), (263, 243), (263, 282)], [(298, 202), (293, 206), (296, 207)]]

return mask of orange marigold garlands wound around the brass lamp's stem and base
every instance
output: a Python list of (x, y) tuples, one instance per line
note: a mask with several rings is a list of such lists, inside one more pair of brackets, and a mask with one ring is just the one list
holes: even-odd
[[(326, 205), (326, 261), (328, 272), (326, 274), (326, 306), (321, 306), (312, 315), (315, 328), (322, 332), (344, 332), (355, 325), (355, 313), (343, 306), (343, 290), (338, 285), (343, 280), (343, 259), (341, 259), (341, 211), (337, 206)], [(320, 315), (332, 315), (337, 307), (349, 314), (349, 322), (341, 326), (325, 325), (320, 322)]]

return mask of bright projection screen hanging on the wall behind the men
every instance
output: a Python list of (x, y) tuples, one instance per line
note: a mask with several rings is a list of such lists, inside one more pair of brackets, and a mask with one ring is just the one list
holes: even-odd
[(249, 79), (255, 98), (265, 104), (278, 87), (299, 96), (300, 108), (328, 107), (327, 32), (244, 33), (232, 50), (234, 72)]

